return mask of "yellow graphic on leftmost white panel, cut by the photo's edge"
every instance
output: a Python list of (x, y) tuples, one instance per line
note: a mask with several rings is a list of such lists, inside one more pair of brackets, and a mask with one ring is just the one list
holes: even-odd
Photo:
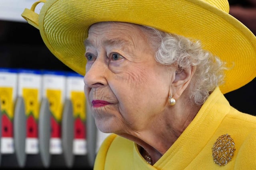
[(13, 118), (14, 101), (12, 101), (12, 88), (0, 87), (1, 113), (5, 113), (9, 119)]

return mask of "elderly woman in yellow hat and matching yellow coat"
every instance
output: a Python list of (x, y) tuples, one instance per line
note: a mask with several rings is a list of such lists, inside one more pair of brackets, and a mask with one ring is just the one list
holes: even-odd
[(256, 167), (256, 117), (223, 95), (255, 78), (256, 38), (226, 0), (48, 0), (39, 20), (36, 4), (22, 16), (113, 133), (94, 169)]

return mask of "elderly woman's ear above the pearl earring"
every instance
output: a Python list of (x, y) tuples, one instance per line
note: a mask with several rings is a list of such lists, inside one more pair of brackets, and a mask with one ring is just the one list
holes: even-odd
[(190, 66), (188, 68), (177, 71), (175, 74), (175, 79), (172, 82), (172, 97), (177, 100), (180, 98), (181, 94), (188, 87), (194, 73), (196, 71), (196, 66)]

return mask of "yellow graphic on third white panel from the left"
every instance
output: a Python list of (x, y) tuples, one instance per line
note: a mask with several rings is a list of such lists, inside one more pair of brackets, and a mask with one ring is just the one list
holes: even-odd
[(60, 122), (62, 119), (61, 90), (47, 89), (46, 97), (49, 100), (50, 111), (52, 112), (52, 115), (56, 121)]

